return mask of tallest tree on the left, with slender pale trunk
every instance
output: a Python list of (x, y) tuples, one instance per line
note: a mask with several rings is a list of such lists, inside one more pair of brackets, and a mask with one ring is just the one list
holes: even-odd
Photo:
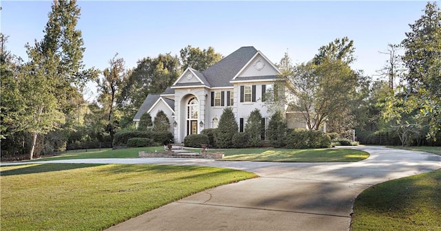
[(72, 90), (77, 91), (96, 76), (85, 69), (85, 48), (81, 31), (76, 30), (80, 8), (76, 1), (54, 1), (48, 14), (43, 39), (27, 44), (29, 61), (14, 76), (19, 87), (14, 131), (32, 134), (30, 159), (34, 157), (37, 136), (59, 129), (65, 120), (65, 106), (70, 104)]

